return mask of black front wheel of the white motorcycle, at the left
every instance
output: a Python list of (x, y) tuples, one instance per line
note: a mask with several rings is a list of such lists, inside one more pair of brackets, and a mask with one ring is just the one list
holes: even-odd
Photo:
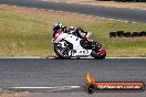
[(59, 58), (64, 60), (71, 58), (70, 48), (67, 46), (62, 47), (60, 43), (54, 44), (54, 52), (59, 56)]

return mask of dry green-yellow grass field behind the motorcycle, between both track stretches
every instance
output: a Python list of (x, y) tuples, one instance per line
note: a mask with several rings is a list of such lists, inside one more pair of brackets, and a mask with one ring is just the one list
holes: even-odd
[(107, 21), (34, 9), (0, 6), (0, 56), (52, 56), (52, 24), (81, 26), (107, 50), (107, 56), (146, 56), (146, 37), (108, 37), (111, 31), (146, 31), (146, 24)]

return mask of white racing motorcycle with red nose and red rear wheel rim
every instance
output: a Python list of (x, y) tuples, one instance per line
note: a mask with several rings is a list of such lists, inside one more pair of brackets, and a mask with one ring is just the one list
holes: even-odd
[(92, 56), (96, 60), (103, 60), (106, 56), (106, 51), (100, 42), (90, 40), (88, 36), (92, 33), (85, 35), (86, 39), (81, 39), (74, 34), (64, 33), (58, 31), (53, 36), (54, 52), (59, 58), (71, 57), (87, 57)]

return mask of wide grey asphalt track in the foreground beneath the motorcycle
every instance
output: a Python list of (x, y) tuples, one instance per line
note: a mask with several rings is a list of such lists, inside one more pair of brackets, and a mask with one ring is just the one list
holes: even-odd
[[(146, 83), (146, 60), (1, 58), (0, 87), (83, 86), (86, 73), (97, 82)], [(83, 90), (35, 93), (30, 97), (87, 97)], [(100, 97), (145, 97), (144, 93), (97, 93)]]

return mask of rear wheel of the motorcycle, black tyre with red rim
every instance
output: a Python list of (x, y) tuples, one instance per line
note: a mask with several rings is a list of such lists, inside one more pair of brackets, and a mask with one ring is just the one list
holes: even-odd
[(104, 47), (101, 47), (101, 50), (95, 48), (92, 51), (91, 56), (96, 60), (104, 60), (106, 56), (106, 51)]

